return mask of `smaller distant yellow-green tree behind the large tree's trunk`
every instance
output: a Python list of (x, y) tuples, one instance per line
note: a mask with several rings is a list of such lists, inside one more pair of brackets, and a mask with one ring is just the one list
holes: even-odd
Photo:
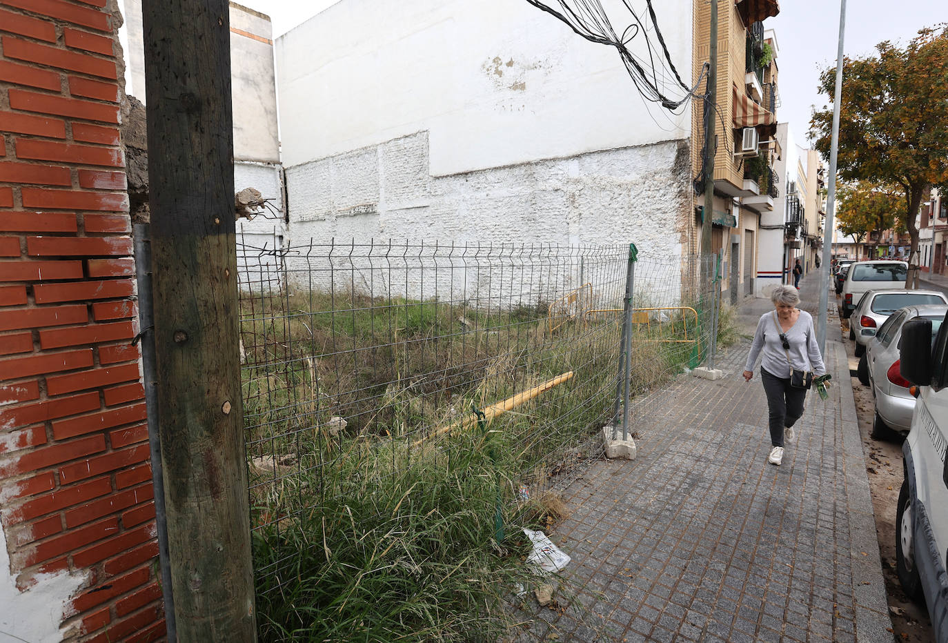
[(852, 235), (857, 243), (870, 241), (875, 232), (872, 253), (879, 245), (883, 230), (896, 228), (896, 212), (902, 207), (900, 194), (893, 188), (855, 182), (841, 186), (837, 193), (836, 222), (843, 234)]

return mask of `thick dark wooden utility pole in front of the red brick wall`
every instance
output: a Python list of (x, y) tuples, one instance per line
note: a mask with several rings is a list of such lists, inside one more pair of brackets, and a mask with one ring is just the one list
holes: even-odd
[(157, 412), (178, 640), (254, 641), (228, 0), (144, 0)]

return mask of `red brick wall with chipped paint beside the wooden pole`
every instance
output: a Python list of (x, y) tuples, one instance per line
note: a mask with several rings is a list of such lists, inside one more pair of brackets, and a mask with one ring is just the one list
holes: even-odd
[[(151, 641), (164, 629), (115, 2), (0, 0), (0, 582), (25, 605), (72, 583), (56, 637)], [(43, 617), (15, 616), (27, 633)]]

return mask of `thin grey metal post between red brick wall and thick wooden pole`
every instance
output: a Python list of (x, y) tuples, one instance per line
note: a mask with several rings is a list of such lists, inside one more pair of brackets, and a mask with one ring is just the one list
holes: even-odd
[(141, 341), (141, 369), (144, 373), (145, 406), (148, 409), (148, 446), (155, 487), (155, 531), (158, 538), (158, 566), (161, 594), (165, 604), (165, 628), (169, 641), (177, 640), (174, 624), (172, 567), (168, 556), (168, 523), (165, 514), (165, 480), (161, 468), (161, 436), (158, 433), (158, 392), (155, 376), (155, 316), (152, 303), (152, 243), (147, 223), (135, 224), (135, 272), (138, 283), (138, 339)]

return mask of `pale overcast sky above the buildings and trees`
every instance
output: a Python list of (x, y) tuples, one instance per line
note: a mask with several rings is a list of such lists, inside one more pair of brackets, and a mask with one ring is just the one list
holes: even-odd
[[(236, 1), (269, 15), (274, 38), (337, 2)], [(780, 14), (764, 22), (765, 28), (774, 29), (779, 48), (781, 104), (776, 116), (781, 122), (790, 122), (794, 141), (799, 145), (809, 146), (807, 133), (812, 106), (822, 107), (829, 102), (817, 93), (816, 84), (820, 71), (836, 64), (839, 8), (839, 0), (782, 0)], [(856, 58), (873, 54), (874, 46), (884, 40), (904, 46), (920, 28), (934, 27), (945, 21), (948, 21), (948, 10), (943, 0), (848, 0), (844, 51), (850, 58)]]

